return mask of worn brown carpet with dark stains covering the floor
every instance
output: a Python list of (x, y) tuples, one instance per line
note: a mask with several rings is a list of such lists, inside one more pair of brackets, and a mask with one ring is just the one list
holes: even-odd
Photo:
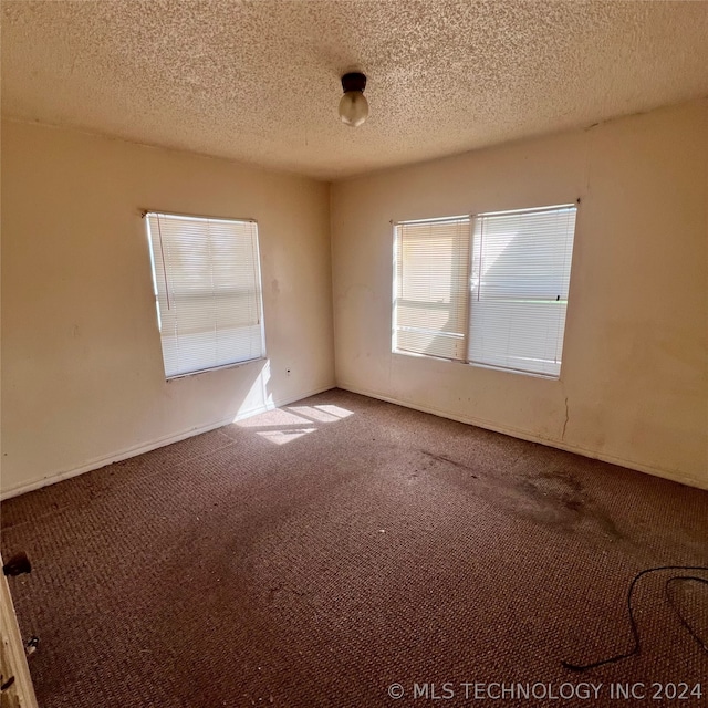
[[(701, 680), (668, 702), (707, 702), (667, 573), (637, 585), (638, 656), (561, 660), (631, 648), (637, 572), (708, 565), (708, 492), (342, 391), (9, 500), (2, 525), (6, 560), (34, 565), (11, 587), (42, 708), (462, 706), (465, 683), (583, 681), (596, 699), (491, 702), (626, 706)], [(708, 637), (708, 586), (671, 591)], [(613, 700), (624, 681), (647, 698)]]

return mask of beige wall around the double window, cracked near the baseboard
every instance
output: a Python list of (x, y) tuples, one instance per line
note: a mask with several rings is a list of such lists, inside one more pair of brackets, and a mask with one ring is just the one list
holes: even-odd
[[(708, 102), (332, 188), (336, 378), (708, 488)], [(392, 220), (574, 201), (560, 381), (391, 353)]]

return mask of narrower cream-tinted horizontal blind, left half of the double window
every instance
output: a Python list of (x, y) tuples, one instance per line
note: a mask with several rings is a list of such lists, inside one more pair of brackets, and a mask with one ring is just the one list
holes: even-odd
[(470, 220), (396, 225), (394, 351), (466, 356)]

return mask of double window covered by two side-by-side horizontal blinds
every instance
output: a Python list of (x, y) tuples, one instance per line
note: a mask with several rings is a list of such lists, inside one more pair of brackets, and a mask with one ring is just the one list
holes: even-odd
[(558, 378), (575, 214), (397, 223), (394, 351)]

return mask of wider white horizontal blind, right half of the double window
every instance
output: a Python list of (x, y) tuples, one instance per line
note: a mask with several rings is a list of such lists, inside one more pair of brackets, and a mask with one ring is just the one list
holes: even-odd
[(558, 378), (574, 205), (476, 216), (469, 361)]

